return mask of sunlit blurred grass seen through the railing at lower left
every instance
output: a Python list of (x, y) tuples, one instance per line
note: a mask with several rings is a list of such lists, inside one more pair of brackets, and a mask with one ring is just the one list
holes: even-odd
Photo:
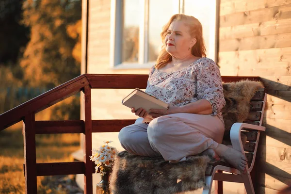
[[(70, 162), (79, 148), (79, 134), (36, 135), (36, 162)], [(0, 194), (25, 193), (24, 151), (21, 125), (0, 131)], [(64, 176), (37, 177), (38, 194), (66, 194), (54, 185)], [(74, 181), (73, 176), (69, 176)]]

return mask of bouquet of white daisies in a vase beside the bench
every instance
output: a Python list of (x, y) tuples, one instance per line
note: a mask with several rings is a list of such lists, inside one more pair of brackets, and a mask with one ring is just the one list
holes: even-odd
[(97, 184), (97, 194), (110, 194), (109, 176), (117, 153), (115, 147), (108, 145), (112, 141), (106, 141), (104, 143), (99, 149), (93, 148), (92, 156), (90, 156), (90, 160), (96, 164), (96, 173), (101, 174), (101, 181)]

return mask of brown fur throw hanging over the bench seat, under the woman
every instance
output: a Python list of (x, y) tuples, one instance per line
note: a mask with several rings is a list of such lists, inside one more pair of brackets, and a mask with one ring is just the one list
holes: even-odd
[(118, 153), (110, 177), (113, 194), (176, 194), (204, 187), (209, 158), (194, 156), (184, 162), (169, 163), (162, 157)]

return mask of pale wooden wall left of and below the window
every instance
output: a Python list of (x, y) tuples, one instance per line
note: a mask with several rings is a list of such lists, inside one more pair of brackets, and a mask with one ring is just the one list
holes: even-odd
[[(90, 0), (87, 73), (147, 74), (148, 69), (114, 69), (110, 66), (110, 30), (111, 0)], [(131, 89), (92, 90), (92, 119), (137, 118), (129, 108), (121, 104), (121, 100), (129, 91)], [(112, 140), (113, 146), (122, 149), (117, 134), (93, 134), (93, 146), (98, 146), (105, 140)]]

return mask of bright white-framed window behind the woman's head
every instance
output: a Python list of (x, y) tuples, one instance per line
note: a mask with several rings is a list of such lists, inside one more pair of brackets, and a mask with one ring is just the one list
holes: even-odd
[[(211, 2), (210, 2), (211, 1)], [(112, 0), (111, 51), (113, 68), (148, 68), (162, 48), (160, 33), (171, 16), (185, 13), (197, 17), (204, 28), (209, 53), (215, 49), (216, 0)], [(214, 3), (213, 3), (214, 2)], [(198, 5), (198, 6), (197, 6)], [(213, 14), (209, 14), (214, 9)], [(214, 28), (215, 29), (215, 28)], [(211, 36), (214, 34), (214, 39)], [(213, 52), (215, 53), (215, 51)], [(208, 56), (214, 60), (215, 56)]]

